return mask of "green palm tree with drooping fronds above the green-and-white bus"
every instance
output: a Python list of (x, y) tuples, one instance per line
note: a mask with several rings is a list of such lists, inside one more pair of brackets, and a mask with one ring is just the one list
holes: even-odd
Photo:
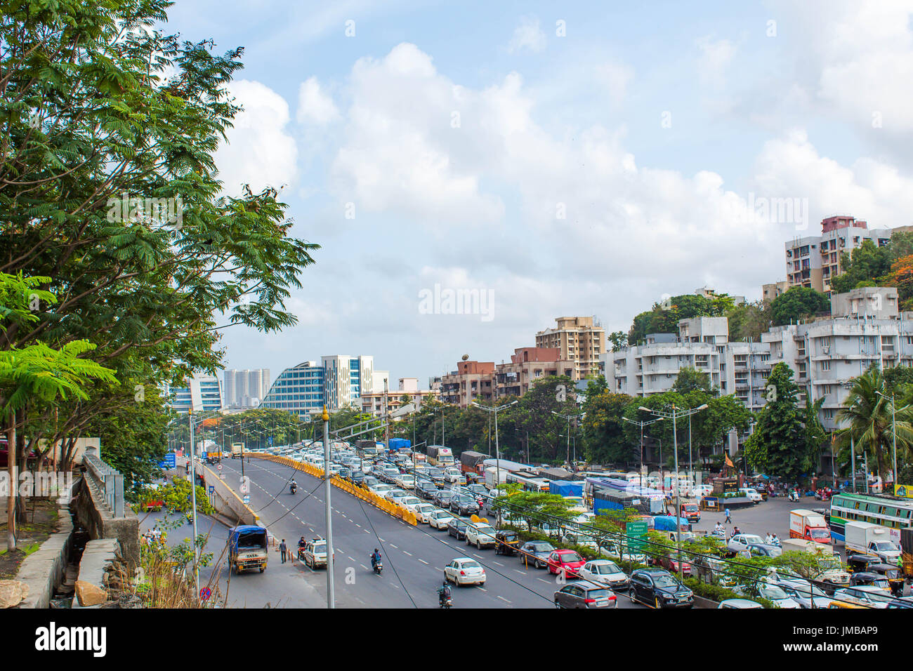
[[(874, 455), (878, 465), (878, 475), (882, 482), (891, 472), (890, 461), (894, 444), (892, 432), (892, 401), (887, 396), (887, 385), (881, 369), (872, 365), (862, 375), (853, 379), (853, 386), (844, 401), (843, 409), (837, 414), (838, 422), (848, 423), (845, 429), (837, 432), (837, 444), (849, 446), (850, 436), (855, 440), (855, 448)], [(910, 404), (898, 405), (897, 447), (903, 449), (913, 446), (913, 408)]]

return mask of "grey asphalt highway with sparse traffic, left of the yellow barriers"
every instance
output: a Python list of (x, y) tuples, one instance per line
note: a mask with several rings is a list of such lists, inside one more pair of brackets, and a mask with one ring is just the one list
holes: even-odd
[[(222, 464), (226, 482), (237, 489), (240, 462), (225, 459)], [(285, 539), (295, 551), (301, 536), (326, 536), (322, 480), (256, 458), (246, 462), (244, 470), (251, 478), (250, 507), (277, 542)], [(293, 474), (299, 484), (295, 495), (289, 494), (288, 486)], [(331, 502), (336, 549), (334, 587), (339, 608), (436, 608), (436, 589), (443, 582), (444, 566), (456, 557), (479, 561), (486, 569), (488, 582), (484, 587), (451, 588), (455, 608), (554, 607), (552, 594), (558, 583), (547, 571), (528, 569), (517, 557), (496, 555), (494, 550), (476, 550), (465, 541), (448, 536), (446, 531), (405, 524), (338, 488), (332, 489)], [(380, 576), (371, 571), (369, 555), (375, 547), (383, 553)], [(245, 584), (239, 586), (242, 582)], [(325, 570), (311, 571), (297, 560), (281, 564), (277, 552), (270, 553), (264, 573), (232, 576), (231, 591), (236, 596), (248, 592), (248, 585), (283, 594), (284, 599), (272, 602), (273, 606), (313, 607), (318, 605), (314, 603), (314, 592), (320, 594), (323, 603), (326, 600)], [(300, 598), (296, 590), (302, 592)], [(231, 593), (228, 603), (241, 605), (231, 598)], [(619, 607), (643, 606), (620, 595)]]

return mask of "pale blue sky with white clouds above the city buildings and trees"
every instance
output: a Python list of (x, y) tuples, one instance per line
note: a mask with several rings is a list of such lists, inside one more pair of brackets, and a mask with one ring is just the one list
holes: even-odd
[(226, 329), (226, 368), (426, 388), (560, 316), (760, 299), (825, 216), (913, 223), (913, 0), (685, 5), (177, 0), (171, 31), (245, 47), (226, 193), (281, 188), (321, 246), (298, 325)]

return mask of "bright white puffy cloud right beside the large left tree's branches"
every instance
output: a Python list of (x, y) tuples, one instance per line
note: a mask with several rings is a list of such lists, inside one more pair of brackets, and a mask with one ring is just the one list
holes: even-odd
[(289, 103), (276, 91), (258, 81), (239, 79), (228, 86), (241, 105), (234, 128), (227, 131), (227, 143), (215, 152), (215, 165), (226, 194), (241, 194), (241, 184), (255, 192), (294, 183), (298, 146), (285, 127)]

